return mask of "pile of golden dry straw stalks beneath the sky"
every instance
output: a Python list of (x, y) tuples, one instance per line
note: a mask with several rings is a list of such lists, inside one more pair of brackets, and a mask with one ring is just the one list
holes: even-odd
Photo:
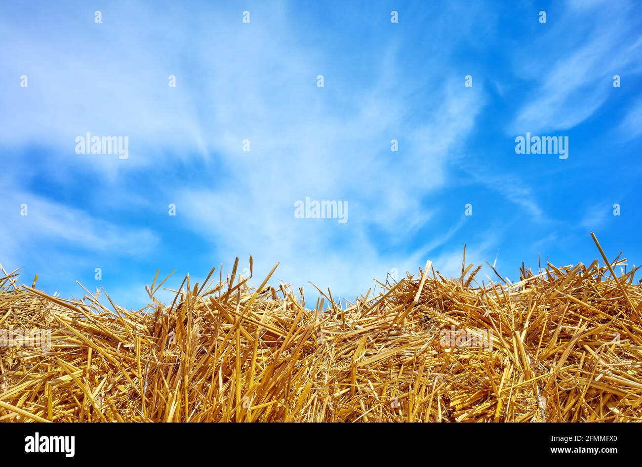
[(0, 419), (639, 421), (642, 289), (600, 253), (603, 267), (522, 267), (517, 283), (428, 263), (356, 303), (319, 290), (313, 309), (236, 265), (187, 276), (169, 304), (155, 278), (152, 313), (3, 270), (0, 329), (50, 330), (51, 346), (0, 348)]

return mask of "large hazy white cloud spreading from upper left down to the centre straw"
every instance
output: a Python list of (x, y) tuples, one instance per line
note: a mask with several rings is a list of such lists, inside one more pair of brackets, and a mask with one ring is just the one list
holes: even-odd
[[(177, 220), (206, 240), (213, 263), (253, 254), (261, 265), (256, 277), (281, 261), (275, 278), (309, 279), (342, 294), (365, 290), (392, 268), (415, 270), (421, 256), (449, 238), (406, 246), (437, 215), (438, 207), (426, 209), (422, 198), (446, 184), (449, 163), (484, 103), (481, 80), (471, 89), (462, 76), (444, 78), (447, 44), (431, 54), (431, 71), (413, 80), (398, 75), (394, 41), (368, 73), (348, 79), (349, 70), (324, 48), (302, 44), (293, 11), (281, 4), (257, 5), (251, 25), (234, 8), (197, 19), (180, 8), (114, 5), (103, 12), (103, 24), (90, 16), (78, 26), (77, 18), (61, 17), (55, 27), (43, 18), (51, 13), (35, 13), (42, 17), (33, 24), (44, 24), (43, 31), (0, 20), (8, 76), (0, 104), (16, 109), (0, 127), (0, 140), (49, 148), (51, 159), (35, 170), (95, 172), (123, 200), (135, 191), (128, 175), (160, 172), (150, 186), (163, 203), (177, 203)], [(429, 22), (438, 26), (440, 19), (427, 18), (426, 28)], [(176, 24), (189, 24), (190, 34), (173, 33)], [(14, 78), (22, 74), (29, 76), (27, 89)], [(177, 76), (175, 89), (169, 75)], [(317, 75), (325, 75), (324, 88), (316, 86)], [(429, 94), (430, 105), (417, 109), (417, 94)], [(85, 132), (129, 136), (129, 159), (74, 154), (74, 137)], [(391, 139), (399, 139), (399, 152), (390, 152)], [(216, 177), (189, 172), (196, 164)], [(295, 200), (306, 196), (348, 200), (347, 224), (294, 218)], [(31, 199), (47, 214), (31, 218), (25, 242), (43, 236), (133, 254), (153, 240), (146, 231), (120, 231)], [(30, 206), (31, 212), (39, 211)], [(390, 245), (395, 249), (385, 252)]]

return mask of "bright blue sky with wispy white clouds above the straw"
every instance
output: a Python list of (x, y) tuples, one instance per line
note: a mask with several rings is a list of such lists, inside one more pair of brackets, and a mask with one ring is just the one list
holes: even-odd
[[(464, 243), (513, 279), (589, 263), (591, 231), (639, 264), (641, 26), (633, 1), (3, 3), (0, 263), (134, 308), (157, 269), (250, 254), (256, 285), (280, 261), (272, 283), (343, 297), (428, 259), (458, 276)], [(87, 132), (128, 158), (76, 154)], [(568, 159), (516, 154), (526, 132)], [(296, 218), (306, 197), (347, 222)]]

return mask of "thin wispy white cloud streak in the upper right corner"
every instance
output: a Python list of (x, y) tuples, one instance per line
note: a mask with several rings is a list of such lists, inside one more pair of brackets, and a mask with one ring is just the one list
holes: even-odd
[(523, 51), (518, 68), (526, 79), (535, 80), (536, 87), (518, 110), (511, 133), (573, 128), (616, 92), (614, 75), (642, 71), (642, 42), (630, 43), (635, 27), (630, 2), (582, 7), (573, 3), (561, 17), (539, 25), (541, 39)]

